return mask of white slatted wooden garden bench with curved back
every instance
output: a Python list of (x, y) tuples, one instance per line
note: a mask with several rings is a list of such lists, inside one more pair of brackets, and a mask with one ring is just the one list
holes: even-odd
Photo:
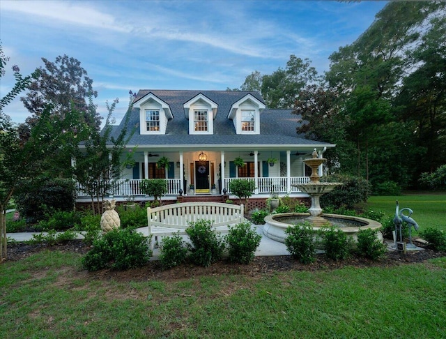
[(179, 232), (185, 235), (185, 229), (197, 220), (211, 220), (216, 232), (227, 233), (229, 225), (242, 223), (243, 205), (224, 204), (222, 202), (180, 202), (160, 207), (148, 207), (148, 236), (152, 236), (151, 249), (157, 243), (158, 236), (171, 236)]

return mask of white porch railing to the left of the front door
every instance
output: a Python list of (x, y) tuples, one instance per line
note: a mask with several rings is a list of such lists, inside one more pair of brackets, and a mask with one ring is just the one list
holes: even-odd
[[(167, 181), (167, 195), (178, 195), (180, 190), (180, 179), (165, 179)], [(110, 195), (137, 196), (144, 195), (141, 192), (141, 179), (123, 179), (111, 181), (112, 189)], [(77, 197), (86, 197), (84, 188), (77, 183)]]

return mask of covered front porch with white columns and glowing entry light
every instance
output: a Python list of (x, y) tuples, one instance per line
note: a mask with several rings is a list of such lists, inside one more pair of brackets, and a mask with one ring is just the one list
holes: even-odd
[[(136, 148), (137, 149), (137, 148)], [(253, 195), (268, 197), (271, 193), (290, 196), (306, 196), (296, 183), (309, 182), (309, 169), (303, 159), (308, 158), (314, 147), (298, 151), (281, 149), (222, 149), (203, 148), (197, 150), (146, 149), (133, 152), (134, 165), (123, 170), (121, 179), (111, 181), (109, 195), (116, 199), (144, 199), (140, 183), (144, 179), (165, 179), (167, 195), (164, 199), (175, 199), (178, 195), (231, 195), (230, 182), (243, 179), (255, 182)], [(322, 157), (325, 149), (318, 149)], [(167, 158), (169, 165), (160, 167), (160, 158)], [(243, 166), (234, 163), (243, 159)], [(275, 162), (270, 162), (274, 159)], [(183, 169), (183, 170), (181, 170)], [(322, 174), (322, 166), (319, 168)], [(88, 195), (77, 185), (77, 197)]]

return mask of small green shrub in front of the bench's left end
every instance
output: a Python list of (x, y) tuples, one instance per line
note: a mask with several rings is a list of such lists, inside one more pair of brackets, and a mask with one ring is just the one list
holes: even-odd
[(187, 246), (179, 234), (164, 236), (160, 244), (160, 262), (164, 269), (183, 264), (187, 258)]

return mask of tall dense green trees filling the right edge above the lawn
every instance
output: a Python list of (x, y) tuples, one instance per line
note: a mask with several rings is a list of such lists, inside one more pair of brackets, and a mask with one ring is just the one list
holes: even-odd
[(416, 183), (434, 149), (446, 155), (445, 10), (441, 1), (392, 1), (353, 44), (330, 56), (325, 79), (348, 118), (346, 142), (356, 146), (351, 174)]

